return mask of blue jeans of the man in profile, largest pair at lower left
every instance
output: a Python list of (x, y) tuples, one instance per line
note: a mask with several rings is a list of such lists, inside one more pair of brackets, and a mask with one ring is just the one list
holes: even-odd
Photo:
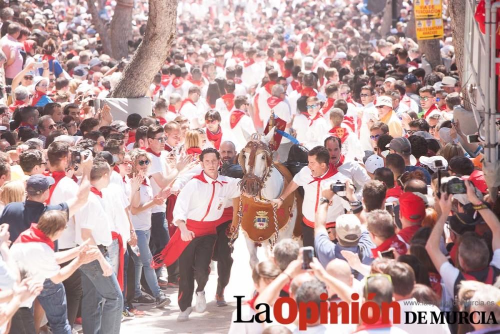
[[(103, 252), (110, 262), (109, 256)], [(115, 275), (103, 276), (97, 260), (80, 266), (81, 319), (85, 334), (117, 334), (120, 331), (123, 296)]]

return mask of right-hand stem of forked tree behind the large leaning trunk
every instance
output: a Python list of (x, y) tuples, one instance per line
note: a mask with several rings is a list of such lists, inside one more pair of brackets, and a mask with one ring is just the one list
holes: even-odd
[(132, 36), (133, 0), (118, 0), (111, 21), (111, 50), (116, 60), (128, 57), (128, 39)]

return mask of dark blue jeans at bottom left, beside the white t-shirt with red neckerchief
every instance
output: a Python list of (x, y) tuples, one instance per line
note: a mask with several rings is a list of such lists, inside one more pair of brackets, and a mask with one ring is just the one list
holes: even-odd
[(50, 279), (45, 279), (43, 290), (37, 298), (45, 311), (52, 333), (71, 334), (71, 326), (67, 321), (64, 285), (62, 283), (54, 284)]

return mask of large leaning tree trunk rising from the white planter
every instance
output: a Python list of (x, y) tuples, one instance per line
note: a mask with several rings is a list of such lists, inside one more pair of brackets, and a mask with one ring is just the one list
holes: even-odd
[(176, 18), (176, 0), (149, 0), (144, 38), (113, 88), (111, 98), (146, 95), (175, 38)]

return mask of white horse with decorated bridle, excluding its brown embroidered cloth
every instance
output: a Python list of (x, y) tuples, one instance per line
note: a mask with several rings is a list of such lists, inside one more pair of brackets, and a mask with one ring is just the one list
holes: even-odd
[[(265, 136), (260, 135), (260, 134), (252, 134), (249, 135), (243, 131), (243, 134), (245, 135), (246, 141), (249, 142), (251, 140), (260, 140), (260, 142), (263, 144), (261, 147), (269, 147), (269, 141), (272, 138), (272, 135), (274, 134), (274, 129), (269, 131), (269, 133)], [(268, 202), (272, 199), (276, 199), (279, 197), (281, 194), (281, 191), (283, 190), (283, 185), (284, 185), (284, 179), (281, 173), (276, 169), (276, 168), (270, 168), (269, 166), (269, 157), (266, 156), (266, 154), (269, 154), (271, 151), (270, 149), (268, 152), (264, 152), (262, 149), (257, 150), (255, 154), (255, 159), (254, 159), (254, 166), (253, 168), (250, 168), (250, 152), (248, 150), (245, 150), (244, 148), (241, 150), (240, 154), (244, 155), (244, 172), (246, 175), (246, 178), (243, 177), (242, 179), (242, 192), (244, 195), (249, 196), (249, 197), (255, 197), (259, 201), (263, 202)], [(270, 164), (272, 164), (272, 160), (270, 161)], [(269, 169), (270, 168), (270, 169)], [(252, 171), (251, 174), (249, 175), (249, 171)], [(248, 176), (250, 178), (253, 178), (253, 180), (260, 180), (261, 182), (258, 184), (258, 186), (254, 186), (254, 188), (258, 189), (253, 189), (253, 193), (248, 193), (247, 191), (244, 191), (243, 189), (248, 189), (250, 187), (245, 188), (245, 180), (248, 180)], [(250, 181), (251, 182), (251, 181)], [(258, 181), (257, 181), (258, 182)], [(246, 185), (247, 186), (247, 185)], [(292, 195), (290, 195), (292, 196)], [(236, 208), (235, 208), (236, 209)], [(244, 216), (243, 212), (243, 216)], [(286, 238), (292, 238), (293, 236), (293, 228), (295, 226), (295, 219), (297, 216), (297, 205), (296, 201), (294, 200), (293, 204), (293, 209), (290, 213), (290, 218), (286, 224), (285, 227), (281, 228), (278, 233), (278, 239), (276, 241), (279, 241), (281, 239), (286, 239)], [(248, 248), (248, 251), (250, 253), (250, 267), (253, 269), (255, 265), (258, 264), (259, 260), (257, 258), (257, 246), (255, 242), (251, 241), (248, 239), (247, 235), (245, 235), (245, 241), (246, 241), (246, 246)], [(274, 235), (271, 236), (271, 239), (274, 238)], [(268, 245), (269, 243), (266, 242)], [(262, 246), (264, 244), (262, 243)], [(269, 248), (267, 248), (269, 250)]]

